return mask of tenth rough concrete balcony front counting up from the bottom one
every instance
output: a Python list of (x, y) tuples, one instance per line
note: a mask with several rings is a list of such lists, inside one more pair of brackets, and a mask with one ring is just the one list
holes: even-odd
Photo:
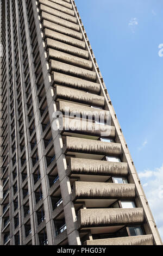
[(77, 66), (72, 66), (69, 64), (58, 62), (57, 60), (51, 60), (50, 66), (52, 70), (55, 70), (61, 73), (66, 73), (68, 75), (87, 78), (88, 80), (91, 80), (93, 82), (96, 81), (96, 72), (93, 72), (87, 69), (78, 68)]

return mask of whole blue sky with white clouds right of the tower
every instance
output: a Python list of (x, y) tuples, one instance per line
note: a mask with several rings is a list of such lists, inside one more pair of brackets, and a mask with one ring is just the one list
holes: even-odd
[(163, 2), (76, 4), (163, 240)]

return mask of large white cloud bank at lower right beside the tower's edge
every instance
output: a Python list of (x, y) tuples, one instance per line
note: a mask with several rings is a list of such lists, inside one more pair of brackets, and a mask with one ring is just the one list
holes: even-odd
[(163, 239), (163, 164), (160, 168), (139, 172), (139, 177)]

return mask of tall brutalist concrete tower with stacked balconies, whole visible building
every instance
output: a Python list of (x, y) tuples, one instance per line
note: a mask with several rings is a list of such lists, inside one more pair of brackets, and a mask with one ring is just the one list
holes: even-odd
[(160, 245), (74, 1), (0, 16), (1, 245)]

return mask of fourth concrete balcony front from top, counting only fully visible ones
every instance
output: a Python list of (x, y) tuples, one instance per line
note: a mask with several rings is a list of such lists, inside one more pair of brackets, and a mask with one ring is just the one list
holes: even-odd
[(52, 30), (52, 28), (50, 29), (45, 29), (45, 36), (48, 38), (52, 38), (61, 42), (65, 42), (68, 45), (73, 45), (73, 46), (77, 46), (79, 48), (85, 49), (85, 42), (84, 41), (80, 41), (76, 38), (72, 38), (71, 36), (67, 36), (58, 32), (55, 32)]

